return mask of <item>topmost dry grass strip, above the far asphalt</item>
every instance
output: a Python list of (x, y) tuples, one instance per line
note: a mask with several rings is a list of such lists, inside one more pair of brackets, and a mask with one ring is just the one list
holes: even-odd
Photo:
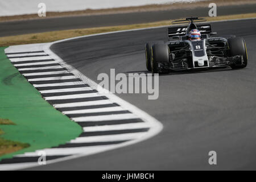
[(47, 12), (46, 17), (39, 17), (37, 14), (1, 16), (0, 22), (8, 22), (8, 21), (14, 21), (14, 20), (27, 20), (27, 19), (56, 18), (56, 17), (63, 17), (63, 16), (90, 16), (90, 15), (145, 12), (145, 11), (163, 11), (163, 10), (174, 10), (174, 9), (195, 9), (197, 7), (208, 7), (210, 2), (216, 3), (217, 6), (229, 6), (229, 5), (255, 4), (256, 0), (212, 0), (212, 1), (192, 2), (192, 3), (177, 2), (173, 4), (164, 4), (164, 5), (144, 5), (144, 6), (119, 7), (119, 8), (112, 8), (112, 9), (100, 9), (100, 10), (87, 9), (87, 10), (81, 10), (81, 11)]

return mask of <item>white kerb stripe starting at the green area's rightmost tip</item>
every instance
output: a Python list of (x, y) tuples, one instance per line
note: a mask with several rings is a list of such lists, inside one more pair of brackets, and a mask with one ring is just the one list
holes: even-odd
[(109, 130), (129, 130), (129, 129), (142, 129), (147, 128), (148, 125), (145, 122), (141, 123), (127, 123), (121, 125), (104, 125), (104, 126), (89, 126), (83, 127), (84, 132), (94, 132), (94, 131), (109, 131)]

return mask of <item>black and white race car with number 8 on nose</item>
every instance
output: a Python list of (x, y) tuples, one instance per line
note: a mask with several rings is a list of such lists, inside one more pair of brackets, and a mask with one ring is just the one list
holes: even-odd
[(217, 36), (203, 18), (186, 18), (172, 24), (188, 26), (167, 27), (168, 41), (152, 41), (145, 45), (146, 67), (152, 73), (167, 73), (188, 69), (247, 66), (245, 40), (229, 35)]

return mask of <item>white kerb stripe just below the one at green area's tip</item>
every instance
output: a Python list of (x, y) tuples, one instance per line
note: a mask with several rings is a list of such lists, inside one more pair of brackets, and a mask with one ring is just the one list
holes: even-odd
[(146, 132), (138, 133), (125, 133), (118, 135), (102, 135), (102, 136), (93, 136), (93, 137), (77, 137), (76, 139), (71, 140), (69, 143), (87, 143), (87, 142), (113, 142), (120, 140), (133, 140), (139, 136), (145, 135)]

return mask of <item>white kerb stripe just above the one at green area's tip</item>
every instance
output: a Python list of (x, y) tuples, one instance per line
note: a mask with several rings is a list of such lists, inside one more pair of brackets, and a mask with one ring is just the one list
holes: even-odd
[(87, 121), (112, 121), (119, 119), (135, 119), (139, 118), (137, 115), (133, 113), (125, 113), (125, 114), (110, 114), (110, 115), (96, 115), (96, 116), (86, 116), (86, 117), (76, 117), (71, 118), (76, 122), (87, 122)]

